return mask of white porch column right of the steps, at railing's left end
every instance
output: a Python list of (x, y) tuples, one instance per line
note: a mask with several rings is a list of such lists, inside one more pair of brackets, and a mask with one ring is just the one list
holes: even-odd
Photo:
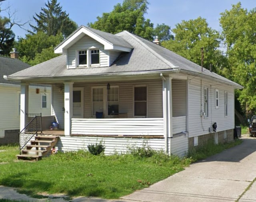
[(71, 118), (73, 116), (73, 82), (64, 83), (64, 134), (70, 136)]

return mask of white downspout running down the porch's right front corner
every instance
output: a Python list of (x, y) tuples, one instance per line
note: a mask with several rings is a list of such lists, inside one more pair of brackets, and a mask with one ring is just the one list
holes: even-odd
[(167, 109), (166, 109), (166, 100), (167, 100), (167, 90), (166, 90), (166, 78), (163, 74), (160, 74), (162, 78), (162, 92), (163, 92), (163, 121), (164, 121), (164, 145), (165, 152), (168, 154), (168, 137), (167, 137)]

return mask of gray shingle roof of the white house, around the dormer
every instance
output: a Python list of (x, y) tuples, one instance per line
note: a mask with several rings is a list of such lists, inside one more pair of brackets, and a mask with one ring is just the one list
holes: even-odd
[(223, 82), (232, 85), (238, 84), (218, 75), (209, 70), (203, 69), (201, 66), (183, 58), (182, 56), (160, 46), (153, 42), (141, 38), (135, 34), (127, 31), (120, 32), (116, 35), (101, 32), (89, 28), (91, 31), (107, 38), (107, 40), (114, 40), (116, 36), (122, 38), (122, 42), (130, 44), (133, 47), (131, 52), (121, 53), (120, 56), (113, 62), (110, 67), (99, 68), (66, 68), (66, 55), (58, 56), (36, 66), (14, 73), (8, 78), (38, 78), (38, 77), (62, 77), (62, 76), (83, 76), (83, 75), (98, 75), (110, 73), (127, 73), (134, 74), (134, 72), (155, 71), (155, 70), (171, 70), (178, 67), (183, 72), (195, 73), (200, 76), (209, 76), (217, 78)]

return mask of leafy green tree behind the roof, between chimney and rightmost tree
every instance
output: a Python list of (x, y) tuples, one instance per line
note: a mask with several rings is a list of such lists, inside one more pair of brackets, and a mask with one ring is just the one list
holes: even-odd
[(201, 65), (201, 48), (204, 50), (205, 68), (210, 68), (218, 72), (224, 63), (224, 56), (218, 49), (220, 47), (220, 34), (208, 27), (206, 19), (182, 20), (181, 23), (172, 29), (175, 34), (174, 39), (162, 42), (162, 46), (176, 52), (177, 54)]

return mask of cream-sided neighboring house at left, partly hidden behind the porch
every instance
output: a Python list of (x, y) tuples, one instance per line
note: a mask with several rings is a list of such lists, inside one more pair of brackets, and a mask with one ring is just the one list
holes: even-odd
[[(20, 82), (5, 80), (3, 76), (30, 67), (18, 60), (15, 49), (10, 54), (11, 58), (0, 57), (0, 145), (18, 143), (20, 132)], [(39, 94), (36, 94), (36, 89), (39, 89)], [(50, 115), (51, 87), (30, 85), (28, 90), (28, 113)]]

